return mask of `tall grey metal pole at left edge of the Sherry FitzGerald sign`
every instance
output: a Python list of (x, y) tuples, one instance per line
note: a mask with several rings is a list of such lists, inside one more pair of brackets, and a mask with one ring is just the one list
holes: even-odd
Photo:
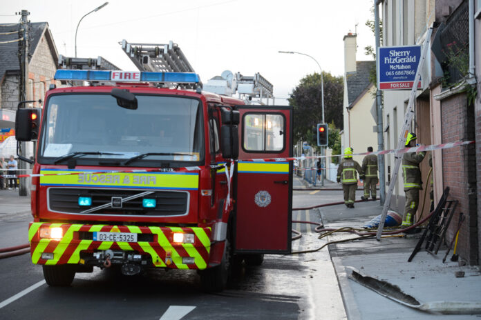
[[(379, 0), (374, 0), (374, 26), (375, 26), (375, 36), (376, 36), (376, 54), (380, 46), (379, 34)], [(376, 59), (379, 57), (376, 55)], [(379, 79), (378, 79), (379, 80)], [(377, 86), (377, 84), (376, 84)], [(383, 115), (382, 115), (382, 97), (381, 90), (379, 88), (376, 90), (376, 110), (377, 110), (377, 151), (384, 150), (384, 132), (383, 132)], [(384, 171), (384, 154), (378, 154), (377, 164), (379, 166), (379, 197), (380, 205), (384, 206), (384, 201), (386, 200), (386, 172)]]

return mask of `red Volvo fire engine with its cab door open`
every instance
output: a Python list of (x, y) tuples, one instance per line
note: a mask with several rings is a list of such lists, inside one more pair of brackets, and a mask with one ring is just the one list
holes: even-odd
[(17, 140), (37, 141), (28, 236), (50, 286), (93, 267), (174, 268), (223, 290), (234, 263), (290, 252), (292, 161), (252, 160), (292, 156), (290, 107), (202, 92), (194, 73), (55, 79), (90, 85), (52, 88), (16, 121)]

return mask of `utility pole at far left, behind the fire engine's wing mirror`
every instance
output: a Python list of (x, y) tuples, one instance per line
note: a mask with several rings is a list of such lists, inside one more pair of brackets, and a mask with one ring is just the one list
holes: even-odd
[[(19, 61), (20, 61), (20, 81), (19, 81), (19, 101), (26, 101), (28, 100), (28, 28), (30, 23), (28, 22), (28, 10), (21, 10), (21, 22), (20, 22), (20, 34), (23, 37), (22, 41), (19, 41)], [(19, 154), (22, 157), (26, 157), (26, 142), (20, 143), (20, 150)], [(19, 169), (26, 169), (27, 163), (25, 161), (18, 161), (18, 168)], [(27, 186), (27, 179), (20, 178), (20, 185), (19, 185), (19, 196), (28, 196), (28, 186)]]

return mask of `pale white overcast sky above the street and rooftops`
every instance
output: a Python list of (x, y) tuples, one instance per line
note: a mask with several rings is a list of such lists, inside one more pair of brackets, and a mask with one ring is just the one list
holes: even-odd
[[(75, 28), (104, 0), (0, 0), (0, 22), (16, 23), (28, 10), (32, 22), (48, 22), (59, 54), (75, 57)], [(321, 68), (342, 75), (343, 36), (357, 32), (357, 60), (372, 60), (364, 47), (375, 45), (365, 26), (373, 0), (111, 0), (88, 14), (77, 32), (77, 56), (102, 56), (137, 70), (119, 44), (177, 43), (203, 83), (224, 70), (253, 76), (274, 86), (277, 105), (299, 81)], [(281, 54), (296, 51), (310, 55)], [(264, 101), (265, 102), (265, 101)], [(270, 101), (272, 104), (272, 100)]]

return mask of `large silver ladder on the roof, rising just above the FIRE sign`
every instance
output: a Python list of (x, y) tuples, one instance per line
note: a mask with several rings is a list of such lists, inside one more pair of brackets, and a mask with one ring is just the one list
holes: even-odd
[[(122, 50), (140, 71), (195, 72), (177, 43), (120, 43)], [(182, 88), (197, 88), (194, 84), (180, 84)], [(202, 86), (202, 83), (200, 83)]]

